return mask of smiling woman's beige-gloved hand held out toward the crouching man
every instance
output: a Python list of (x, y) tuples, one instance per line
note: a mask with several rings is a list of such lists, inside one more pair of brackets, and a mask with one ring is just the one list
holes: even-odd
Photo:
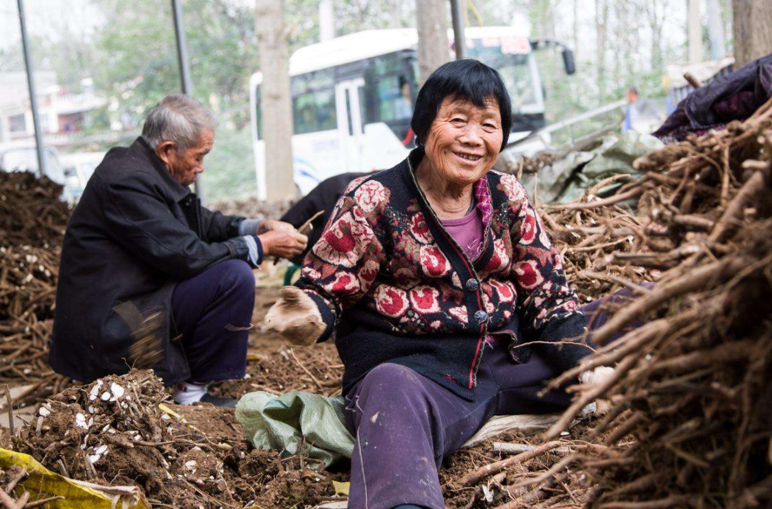
[(326, 328), (317, 304), (298, 287), (283, 287), (266, 314), (266, 325), (292, 344), (314, 344)]

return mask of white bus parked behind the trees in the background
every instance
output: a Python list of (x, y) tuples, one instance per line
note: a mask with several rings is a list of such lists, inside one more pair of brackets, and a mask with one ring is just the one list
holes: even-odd
[[(554, 41), (533, 41), (517, 32), (507, 26), (465, 31), (467, 56), (498, 70), (510, 93), (510, 141), (544, 125), (544, 95), (532, 47), (554, 46)], [(452, 40), (449, 32), (449, 50)], [(418, 93), (417, 46), (415, 29), (367, 30), (306, 46), (289, 58), (293, 169), (303, 195), (333, 175), (390, 168), (415, 146), (410, 119)], [(573, 56), (566, 48), (564, 59), (572, 73)], [(258, 197), (266, 199), (260, 83), (262, 74), (253, 74), (249, 97)]]

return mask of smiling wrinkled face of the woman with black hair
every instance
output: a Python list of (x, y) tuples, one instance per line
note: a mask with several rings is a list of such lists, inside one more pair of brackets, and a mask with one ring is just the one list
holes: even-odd
[(493, 168), (503, 140), (499, 103), (486, 107), (445, 97), (429, 127), (425, 152), (434, 171), (456, 185), (477, 182)]

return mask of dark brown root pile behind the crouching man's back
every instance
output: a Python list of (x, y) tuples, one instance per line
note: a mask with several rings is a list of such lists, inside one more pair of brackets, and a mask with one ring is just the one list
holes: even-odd
[(68, 382), (46, 364), (69, 218), (61, 194), (47, 178), (0, 171), (0, 387), (27, 385), (16, 405), (56, 394)]

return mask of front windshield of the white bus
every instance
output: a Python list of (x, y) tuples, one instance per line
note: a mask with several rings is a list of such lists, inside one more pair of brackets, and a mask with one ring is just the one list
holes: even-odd
[[(527, 44), (527, 40), (525, 43)], [(539, 107), (540, 103), (530, 65), (530, 53), (523, 51), (527, 49), (530, 49), (530, 46), (512, 49), (510, 45), (502, 44), (500, 39), (476, 39), (473, 48), (467, 47), (469, 58), (478, 59), (499, 71), (506, 90), (510, 93), (513, 113), (522, 110), (530, 113), (534, 107)], [(523, 53), (520, 53), (521, 51)]]

